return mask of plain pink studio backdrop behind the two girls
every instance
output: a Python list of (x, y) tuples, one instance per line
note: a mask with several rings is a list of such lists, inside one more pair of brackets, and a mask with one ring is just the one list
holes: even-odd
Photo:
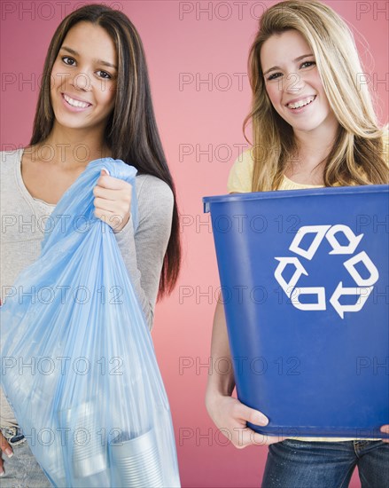
[[(4, 1), (1, 28), (1, 147), (26, 146), (51, 35), (88, 2)], [(183, 270), (156, 309), (153, 339), (175, 424), (183, 486), (259, 486), (267, 449), (237, 450), (207, 416), (204, 394), (218, 273), (201, 198), (226, 193), (232, 162), (246, 147), (250, 106), (246, 59), (258, 17), (275, 2), (104, 2), (125, 12), (146, 51), (154, 107), (182, 214)], [(365, 80), (388, 115), (388, 4), (327, 1), (357, 33)], [(367, 56), (360, 39), (369, 44)], [(363, 82), (363, 78), (361, 78)], [(351, 486), (360, 486), (357, 476)]]

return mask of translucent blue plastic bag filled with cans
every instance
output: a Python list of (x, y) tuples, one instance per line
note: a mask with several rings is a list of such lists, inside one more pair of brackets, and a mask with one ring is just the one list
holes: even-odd
[(152, 338), (113, 231), (94, 216), (103, 168), (134, 187), (136, 169), (105, 158), (58, 202), (41, 256), (0, 308), (2, 385), (55, 486), (179, 486)]

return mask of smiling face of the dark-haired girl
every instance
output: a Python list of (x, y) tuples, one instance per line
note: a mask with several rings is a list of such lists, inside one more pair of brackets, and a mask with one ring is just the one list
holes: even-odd
[(51, 70), (56, 123), (71, 129), (105, 129), (113, 111), (117, 54), (104, 28), (79, 22), (69, 30)]

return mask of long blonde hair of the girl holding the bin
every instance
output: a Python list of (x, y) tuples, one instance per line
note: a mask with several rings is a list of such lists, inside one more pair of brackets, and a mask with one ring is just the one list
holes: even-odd
[(265, 88), (261, 47), (271, 35), (295, 29), (311, 47), (323, 89), (338, 119), (335, 143), (324, 168), (324, 185), (369, 185), (387, 182), (383, 133), (367, 83), (358, 84), (361, 61), (354, 37), (336, 12), (315, 0), (287, 0), (270, 7), (249, 55), (253, 106), (247, 115), (253, 126), (253, 192), (276, 190), (286, 162), (295, 153), (292, 127), (276, 113)]

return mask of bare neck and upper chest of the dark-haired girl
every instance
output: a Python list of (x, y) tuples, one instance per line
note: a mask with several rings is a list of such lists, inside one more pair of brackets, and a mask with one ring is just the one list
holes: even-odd
[(44, 161), (66, 168), (86, 166), (89, 161), (111, 156), (104, 130), (69, 129), (54, 122), (49, 137), (36, 149)]

